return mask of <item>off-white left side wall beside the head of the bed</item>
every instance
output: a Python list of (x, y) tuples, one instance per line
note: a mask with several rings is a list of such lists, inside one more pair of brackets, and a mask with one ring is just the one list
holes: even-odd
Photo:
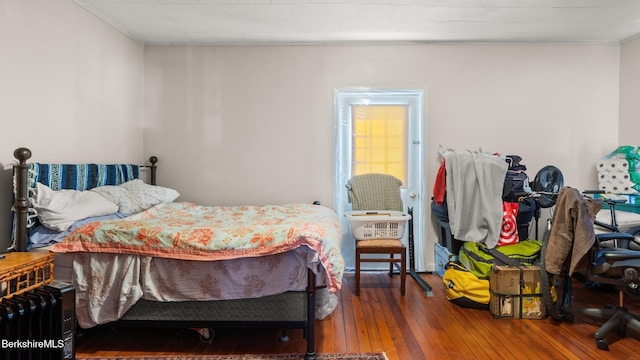
[(138, 162), (143, 46), (68, 0), (0, 0), (0, 249), (13, 151), (41, 162)]

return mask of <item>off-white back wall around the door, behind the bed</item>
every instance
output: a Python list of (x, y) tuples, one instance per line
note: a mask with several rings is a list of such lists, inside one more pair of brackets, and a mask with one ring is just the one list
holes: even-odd
[[(532, 177), (553, 164), (567, 184), (592, 189), (595, 162), (618, 144), (618, 50), (147, 46), (144, 152), (159, 156), (160, 183), (183, 200), (331, 204), (334, 89), (421, 88), (427, 189), (440, 144), (519, 154)], [(428, 236), (433, 243), (432, 229)], [(433, 247), (425, 249), (432, 264)]]

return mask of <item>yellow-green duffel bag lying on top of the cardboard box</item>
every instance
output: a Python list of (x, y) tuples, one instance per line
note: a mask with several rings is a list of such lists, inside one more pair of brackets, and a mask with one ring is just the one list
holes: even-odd
[(493, 265), (534, 266), (540, 258), (542, 242), (522, 240), (516, 244), (488, 249), (484, 243), (465, 241), (458, 261), (479, 279), (488, 279)]

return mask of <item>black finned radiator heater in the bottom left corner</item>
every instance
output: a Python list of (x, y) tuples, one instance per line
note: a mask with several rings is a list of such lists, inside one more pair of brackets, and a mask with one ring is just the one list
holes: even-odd
[(75, 359), (75, 290), (52, 282), (2, 299), (0, 358), (7, 360)]

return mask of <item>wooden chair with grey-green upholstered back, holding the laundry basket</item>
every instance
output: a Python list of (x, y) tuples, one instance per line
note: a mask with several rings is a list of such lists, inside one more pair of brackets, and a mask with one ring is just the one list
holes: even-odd
[[(354, 211), (403, 211), (400, 196), (402, 181), (387, 174), (355, 175), (347, 181), (349, 202)], [(400, 239), (367, 239), (356, 242), (355, 294), (360, 295), (360, 268), (362, 262), (388, 262), (389, 276), (393, 267), (399, 265), (400, 294), (405, 294), (407, 277), (407, 249)], [(388, 258), (363, 257), (364, 254), (388, 254)], [(396, 256), (400, 257), (397, 258)]]

